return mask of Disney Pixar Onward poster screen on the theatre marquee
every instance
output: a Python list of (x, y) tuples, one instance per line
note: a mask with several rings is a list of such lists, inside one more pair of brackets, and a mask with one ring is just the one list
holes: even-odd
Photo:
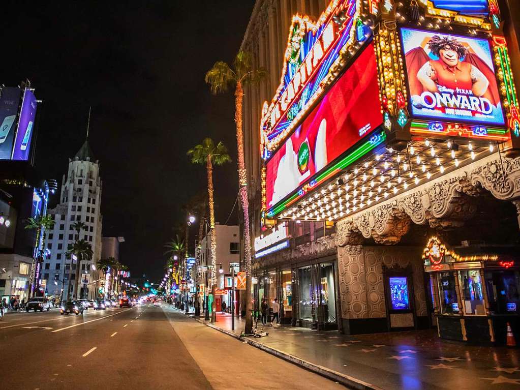
[(401, 29), (414, 118), (504, 125), (489, 41)]

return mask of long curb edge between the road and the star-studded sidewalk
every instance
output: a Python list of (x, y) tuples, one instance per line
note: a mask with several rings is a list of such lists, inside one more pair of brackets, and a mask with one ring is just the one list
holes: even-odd
[[(185, 314), (185, 313), (183, 313), (183, 314)], [(279, 349), (270, 347), (263, 343), (259, 343), (256, 340), (249, 339), (248, 337), (240, 337), (236, 333), (230, 332), (226, 329), (219, 328), (219, 327), (213, 325), (212, 323), (205, 322), (204, 320), (194, 318), (189, 315), (187, 317), (192, 318), (193, 320), (204, 324), (206, 327), (215, 329), (221, 333), (227, 334), (228, 336), (234, 337), (235, 339), (237, 339), (239, 341), (243, 341), (249, 345), (252, 345), (255, 348), (261, 349), (264, 352), (274, 355), (280, 359), (293, 363), (296, 366), (300, 366), (306, 370), (309, 370), (318, 375), (324, 376), (325, 378), (330, 379), (334, 382), (341, 383), (342, 385), (344, 385), (347, 388), (355, 389), (355, 390), (383, 390), (382, 387), (375, 386), (368, 382), (361, 381), (359, 379), (353, 378), (352, 376), (342, 374), (341, 372), (334, 371), (330, 368), (323, 367), (323, 366), (317, 365), (315, 363), (311, 363), (309, 361), (303, 360), (303, 359), (293, 356), (291, 354), (285, 353)]]

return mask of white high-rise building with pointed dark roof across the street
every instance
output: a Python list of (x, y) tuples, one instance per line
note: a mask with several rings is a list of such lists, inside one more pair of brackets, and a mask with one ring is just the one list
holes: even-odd
[[(99, 287), (99, 271), (94, 269), (101, 258), (101, 188), (99, 162), (88, 145), (88, 139), (74, 158), (69, 159), (67, 175), (63, 175), (60, 203), (49, 214), (55, 225), (48, 230), (45, 248), (50, 252), (45, 258), (43, 279), (47, 280), (47, 294), (63, 299), (96, 296)], [(85, 224), (79, 237), (73, 225)], [(92, 245), (93, 256), (89, 261), (74, 260), (67, 254), (69, 244), (85, 240)]]

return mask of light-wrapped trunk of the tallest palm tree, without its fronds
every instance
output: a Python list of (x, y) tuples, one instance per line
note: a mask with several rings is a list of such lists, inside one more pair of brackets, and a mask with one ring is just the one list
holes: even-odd
[(244, 91), (242, 84), (237, 83), (235, 90), (235, 124), (237, 126), (238, 149), (238, 185), (240, 202), (244, 214), (244, 266), (245, 266), (245, 333), (251, 333), (253, 318), (251, 316), (251, 238), (249, 229), (248, 174), (244, 162), (244, 136), (242, 131), (242, 100)]

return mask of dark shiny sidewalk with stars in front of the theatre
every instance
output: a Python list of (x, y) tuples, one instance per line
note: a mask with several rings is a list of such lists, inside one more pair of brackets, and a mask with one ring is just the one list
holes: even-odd
[[(231, 332), (229, 314), (217, 314), (213, 324), (204, 316), (198, 321), (235, 337), (244, 329), (242, 319), (235, 317)], [(356, 336), (291, 326), (264, 330), (267, 337), (247, 337), (246, 342), (347, 387), (520, 389), (518, 350), (441, 341), (435, 330)]]

